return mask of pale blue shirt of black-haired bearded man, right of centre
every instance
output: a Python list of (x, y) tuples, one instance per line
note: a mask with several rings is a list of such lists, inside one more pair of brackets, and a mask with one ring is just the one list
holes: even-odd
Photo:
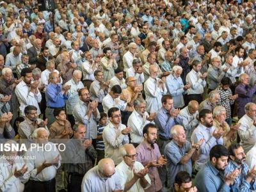
[(200, 170), (203, 164), (209, 160), (209, 154), (212, 147), (218, 144), (223, 144), (223, 138), (216, 139), (212, 136), (214, 127), (205, 127), (202, 124), (199, 124), (191, 135), (191, 142), (198, 143), (202, 138), (204, 142), (200, 145), (200, 157), (196, 161), (195, 169)]

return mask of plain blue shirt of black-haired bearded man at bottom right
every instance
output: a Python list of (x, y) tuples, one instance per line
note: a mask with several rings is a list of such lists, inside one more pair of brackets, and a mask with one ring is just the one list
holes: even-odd
[(230, 187), (225, 184), (225, 177), (208, 161), (197, 173), (195, 186), (202, 192), (229, 192)]

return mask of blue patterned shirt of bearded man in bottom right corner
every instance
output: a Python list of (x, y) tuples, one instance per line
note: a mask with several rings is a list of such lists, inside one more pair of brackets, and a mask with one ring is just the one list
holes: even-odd
[(233, 172), (236, 169), (241, 168), (241, 174), (239, 174), (236, 179), (234, 180), (234, 184), (231, 187), (231, 190), (233, 192), (249, 192), (250, 189), (251, 190), (255, 190), (256, 189), (256, 182), (251, 182), (248, 183), (246, 181), (246, 176), (249, 170), (249, 167), (246, 163), (243, 163), (241, 166), (239, 166), (237, 163), (235, 163), (234, 161), (230, 160), (228, 162), (228, 165), (225, 168), (225, 175), (228, 173)]

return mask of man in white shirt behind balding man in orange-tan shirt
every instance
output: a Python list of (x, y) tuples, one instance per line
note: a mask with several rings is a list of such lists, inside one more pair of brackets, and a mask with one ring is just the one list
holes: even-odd
[(145, 79), (140, 59), (136, 58), (132, 60), (132, 67), (127, 69), (126, 77), (135, 77), (137, 84), (144, 83)]

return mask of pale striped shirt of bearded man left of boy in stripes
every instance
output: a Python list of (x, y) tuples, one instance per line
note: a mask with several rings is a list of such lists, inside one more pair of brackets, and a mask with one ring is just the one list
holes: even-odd
[(92, 115), (89, 117), (86, 115), (88, 113), (88, 106), (82, 100), (75, 106), (73, 110), (73, 116), (75, 118), (76, 124), (81, 123), (86, 125), (86, 138), (97, 138), (97, 121), (100, 119), (100, 113), (97, 109), (97, 116)]

